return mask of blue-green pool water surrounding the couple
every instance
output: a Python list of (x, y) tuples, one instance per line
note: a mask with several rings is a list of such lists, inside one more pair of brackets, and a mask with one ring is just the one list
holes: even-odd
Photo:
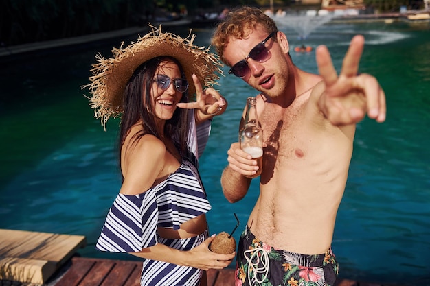
[[(290, 45), (301, 45), (287, 27)], [(188, 34), (185, 29), (178, 33)], [(196, 29), (209, 45), (210, 29)], [(430, 285), (430, 27), (429, 23), (329, 23), (304, 43), (328, 45), (337, 69), (353, 34), (366, 38), (361, 72), (372, 73), (387, 94), (387, 121), (359, 123), (345, 195), (332, 248), (340, 276), (361, 281)], [(80, 86), (99, 51), (109, 56), (120, 40), (30, 53), (0, 66), (0, 228), (85, 235), (85, 257), (133, 259), (94, 250), (104, 217), (120, 188), (117, 120), (104, 132)], [(127, 43), (127, 42), (126, 42)], [(296, 54), (297, 66), (316, 72), (315, 53)], [(227, 71), (227, 69), (225, 69)], [(229, 101), (214, 120), (201, 158), (212, 211), (210, 232), (245, 226), (258, 195), (229, 204), (220, 189), (226, 152), (236, 141), (245, 99), (255, 95), (242, 80), (226, 76), (218, 86)]]

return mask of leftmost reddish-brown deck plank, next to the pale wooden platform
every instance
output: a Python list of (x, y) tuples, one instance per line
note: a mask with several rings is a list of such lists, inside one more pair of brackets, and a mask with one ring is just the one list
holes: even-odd
[(71, 259), (71, 267), (64, 276), (56, 283), (55, 286), (77, 286), (80, 281), (90, 272), (95, 265), (95, 261), (91, 259), (79, 259), (73, 257)]

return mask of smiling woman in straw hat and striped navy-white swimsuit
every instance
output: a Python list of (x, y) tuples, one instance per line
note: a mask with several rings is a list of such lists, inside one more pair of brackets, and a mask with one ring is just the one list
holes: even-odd
[(203, 122), (227, 103), (213, 88), (203, 91), (200, 82), (214, 83), (220, 63), (193, 40), (152, 28), (114, 49), (114, 58), (98, 56), (90, 78), (96, 117), (105, 125), (121, 115), (123, 182), (96, 248), (144, 258), (141, 285), (206, 285), (203, 270), (234, 259), (208, 249), (211, 206), (197, 171), (196, 130), (207, 135)]

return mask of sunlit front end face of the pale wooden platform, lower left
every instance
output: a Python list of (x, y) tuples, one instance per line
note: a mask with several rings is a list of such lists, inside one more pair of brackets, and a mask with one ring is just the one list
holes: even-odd
[(56, 271), (46, 260), (0, 257), (0, 280), (43, 284)]

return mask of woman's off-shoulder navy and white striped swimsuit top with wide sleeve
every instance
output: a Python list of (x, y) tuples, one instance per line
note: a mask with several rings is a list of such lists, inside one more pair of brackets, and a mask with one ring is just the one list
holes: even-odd
[(138, 195), (117, 195), (95, 246), (109, 252), (138, 252), (157, 244), (157, 228), (178, 230), (211, 209), (199, 171), (188, 160), (166, 180)]

